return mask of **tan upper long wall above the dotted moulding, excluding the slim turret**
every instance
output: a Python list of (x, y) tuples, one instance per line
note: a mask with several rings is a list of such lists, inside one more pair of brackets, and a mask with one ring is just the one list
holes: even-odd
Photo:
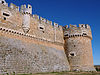
[[(14, 4), (11, 5), (13, 8), (17, 7)], [(24, 15), (13, 8), (11, 6), (0, 5), (0, 26), (24, 32), (22, 29)], [(5, 16), (4, 14), (8, 14), (9, 16)], [(44, 20), (42, 17), (39, 18), (38, 15), (30, 15), (30, 30), (28, 34), (48, 41), (64, 43), (62, 26), (58, 26), (58, 24), (57, 26), (53, 26), (52, 22)]]

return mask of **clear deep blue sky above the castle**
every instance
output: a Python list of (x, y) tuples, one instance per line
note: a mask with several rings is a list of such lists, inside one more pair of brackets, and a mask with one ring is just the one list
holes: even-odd
[(31, 4), (33, 14), (59, 25), (89, 24), (95, 65), (100, 65), (100, 0), (6, 0), (17, 6)]

